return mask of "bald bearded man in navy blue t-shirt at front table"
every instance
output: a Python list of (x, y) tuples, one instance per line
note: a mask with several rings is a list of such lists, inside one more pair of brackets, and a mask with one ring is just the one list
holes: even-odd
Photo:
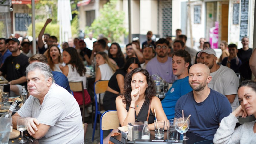
[(210, 69), (204, 64), (195, 64), (189, 69), (189, 85), (193, 91), (179, 98), (175, 106), (175, 118), (190, 120), (188, 132), (213, 140), (220, 122), (232, 108), (225, 95), (208, 88), (212, 80)]

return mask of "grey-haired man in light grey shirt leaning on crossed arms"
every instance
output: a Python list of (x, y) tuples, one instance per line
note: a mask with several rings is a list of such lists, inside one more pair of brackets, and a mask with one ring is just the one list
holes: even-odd
[(55, 84), (50, 67), (41, 62), (26, 69), (29, 98), (12, 116), (26, 117), (27, 131), (40, 143), (84, 143), (80, 108), (76, 99), (63, 87)]

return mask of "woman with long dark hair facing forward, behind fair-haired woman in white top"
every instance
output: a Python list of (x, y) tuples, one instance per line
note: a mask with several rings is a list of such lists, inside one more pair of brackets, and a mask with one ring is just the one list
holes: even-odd
[(110, 49), (108, 50), (108, 57), (115, 61), (114, 64), (118, 66), (117, 69), (123, 67), (125, 58), (118, 43), (114, 42), (111, 44)]

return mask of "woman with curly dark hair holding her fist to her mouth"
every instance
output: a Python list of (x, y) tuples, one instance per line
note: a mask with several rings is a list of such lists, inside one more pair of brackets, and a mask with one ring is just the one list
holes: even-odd
[(157, 119), (166, 121), (161, 101), (155, 95), (154, 82), (147, 70), (136, 68), (127, 74), (124, 79), (124, 93), (116, 98), (121, 126), (137, 121), (144, 122), (148, 118), (149, 129), (154, 130), (154, 109)]

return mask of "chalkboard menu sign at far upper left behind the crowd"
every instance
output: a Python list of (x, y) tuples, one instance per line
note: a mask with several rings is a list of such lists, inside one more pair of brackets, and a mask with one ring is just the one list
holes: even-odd
[(15, 31), (27, 31), (31, 17), (31, 13), (15, 13)]

